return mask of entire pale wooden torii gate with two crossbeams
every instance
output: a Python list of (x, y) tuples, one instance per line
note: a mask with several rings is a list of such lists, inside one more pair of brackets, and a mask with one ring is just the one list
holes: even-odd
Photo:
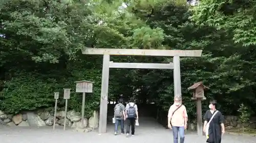
[[(161, 49), (110, 49), (110, 48), (84, 48), (83, 54), (103, 54), (99, 133), (106, 132), (106, 120), (108, 110), (109, 70), (110, 68), (133, 68), (133, 69), (174, 69), (174, 94), (181, 95), (180, 56), (200, 57), (202, 50), (161, 50)], [(110, 55), (150, 55), (150, 56), (173, 56), (173, 63), (114, 63), (110, 61)]]

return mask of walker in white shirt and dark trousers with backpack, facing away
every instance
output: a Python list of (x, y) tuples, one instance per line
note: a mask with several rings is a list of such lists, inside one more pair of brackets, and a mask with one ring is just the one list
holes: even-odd
[(127, 119), (127, 126), (126, 126), (126, 135), (129, 136), (130, 134), (130, 126), (132, 128), (132, 136), (134, 136), (135, 132), (135, 121), (139, 119), (138, 116), (138, 107), (134, 103), (134, 98), (130, 98), (129, 103), (125, 106), (125, 113)]

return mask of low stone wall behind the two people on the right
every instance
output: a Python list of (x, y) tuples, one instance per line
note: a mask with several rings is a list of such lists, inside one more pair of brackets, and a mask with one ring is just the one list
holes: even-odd
[[(238, 120), (237, 116), (224, 116), (224, 124), (226, 129), (242, 128), (241, 121)], [(256, 117), (251, 118), (250, 121), (244, 124), (245, 128), (256, 129)], [(197, 121), (193, 120), (188, 123), (188, 129), (197, 130)]]

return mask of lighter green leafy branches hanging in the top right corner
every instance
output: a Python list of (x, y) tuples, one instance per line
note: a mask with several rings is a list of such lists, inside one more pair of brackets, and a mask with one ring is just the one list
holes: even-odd
[(191, 19), (197, 24), (215, 26), (218, 30), (232, 32), (235, 43), (244, 46), (256, 44), (255, 29), (255, 4), (256, 1), (200, 1), (192, 9)]

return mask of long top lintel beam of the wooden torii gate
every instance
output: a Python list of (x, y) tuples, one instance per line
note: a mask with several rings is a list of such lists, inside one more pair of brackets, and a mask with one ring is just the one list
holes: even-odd
[(202, 55), (202, 50), (84, 48), (84, 49), (82, 49), (82, 54), (194, 56), (194, 57), (200, 57)]

